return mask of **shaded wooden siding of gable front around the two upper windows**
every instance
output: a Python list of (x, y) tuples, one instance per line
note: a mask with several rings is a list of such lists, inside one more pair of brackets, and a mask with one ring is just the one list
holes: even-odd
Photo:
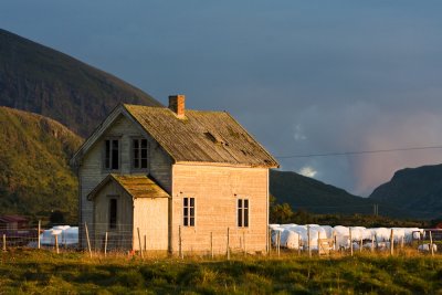
[[(120, 169), (105, 170), (103, 169), (104, 140), (108, 137), (120, 138)], [(130, 148), (133, 137), (145, 137), (149, 141), (149, 169), (143, 171), (134, 171), (136, 173), (150, 173), (151, 177), (170, 193), (171, 185), (171, 159), (158, 146), (158, 144), (137, 125), (125, 116), (120, 115), (106, 131), (97, 139), (97, 141), (88, 149), (82, 165), (78, 167), (80, 204), (81, 204), (81, 232), (80, 240), (83, 247), (86, 246), (84, 235), (84, 222), (92, 224), (93, 221), (93, 202), (87, 200), (87, 194), (110, 172), (113, 173), (131, 173), (130, 166)], [(91, 236), (94, 235), (92, 226), (90, 226)]]

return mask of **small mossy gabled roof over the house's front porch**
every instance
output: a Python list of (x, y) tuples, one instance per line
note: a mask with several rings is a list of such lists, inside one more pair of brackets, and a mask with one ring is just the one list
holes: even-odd
[(124, 175), (108, 175), (88, 196), (87, 199), (92, 200), (105, 185), (109, 181), (115, 181), (119, 185), (129, 196), (136, 198), (169, 198), (170, 196), (161, 189), (155, 180), (147, 176), (124, 176)]

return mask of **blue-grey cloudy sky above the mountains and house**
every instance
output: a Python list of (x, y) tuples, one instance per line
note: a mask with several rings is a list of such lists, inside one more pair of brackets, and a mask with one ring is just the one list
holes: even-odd
[(442, 162), (442, 1), (2, 0), (0, 28), (167, 104), (228, 110), (291, 170), (367, 197)]

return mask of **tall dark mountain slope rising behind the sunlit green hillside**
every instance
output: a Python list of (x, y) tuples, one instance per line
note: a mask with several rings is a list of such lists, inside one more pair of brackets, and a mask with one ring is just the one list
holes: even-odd
[(51, 117), (87, 137), (119, 102), (161, 105), (110, 74), (0, 29), (0, 105)]

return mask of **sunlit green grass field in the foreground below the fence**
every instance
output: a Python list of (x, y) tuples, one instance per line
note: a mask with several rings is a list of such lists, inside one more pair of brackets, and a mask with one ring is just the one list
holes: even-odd
[(442, 256), (90, 259), (1, 253), (0, 294), (442, 294)]

